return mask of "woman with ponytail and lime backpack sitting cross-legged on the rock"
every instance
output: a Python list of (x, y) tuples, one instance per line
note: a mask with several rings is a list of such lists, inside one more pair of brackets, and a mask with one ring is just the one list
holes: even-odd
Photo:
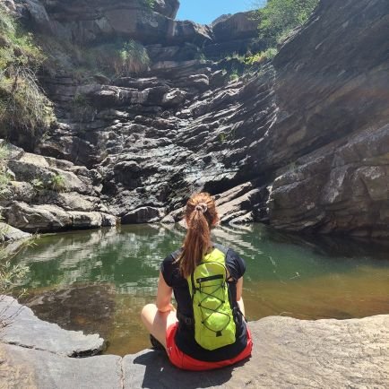
[(187, 370), (232, 365), (253, 347), (242, 299), (246, 265), (232, 249), (212, 243), (218, 220), (210, 194), (188, 200), (184, 245), (164, 259), (157, 303), (142, 311), (151, 339), (160, 341), (173, 365)]

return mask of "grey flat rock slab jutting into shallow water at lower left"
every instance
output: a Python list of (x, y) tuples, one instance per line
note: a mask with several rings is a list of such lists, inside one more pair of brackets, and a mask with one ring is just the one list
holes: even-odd
[(0, 341), (22, 348), (45, 350), (67, 357), (95, 355), (104, 349), (99, 335), (66, 331), (57, 324), (43, 322), (14, 298), (0, 297)]

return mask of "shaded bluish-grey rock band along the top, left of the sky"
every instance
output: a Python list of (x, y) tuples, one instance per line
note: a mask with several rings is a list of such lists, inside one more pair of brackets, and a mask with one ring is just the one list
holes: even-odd
[(122, 36), (143, 43), (179, 44), (192, 41), (198, 45), (211, 39), (212, 31), (189, 21), (175, 21), (177, 0), (147, 1), (18, 1), (23, 14), (38, 30), (50, 31), (61, 39), (79, 43), (115, 39)]

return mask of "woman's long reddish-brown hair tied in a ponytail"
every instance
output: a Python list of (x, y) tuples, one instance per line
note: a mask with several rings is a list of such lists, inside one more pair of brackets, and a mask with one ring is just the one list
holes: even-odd
[(185, 219), (187, 231), (178, 261), (179, 272), (186, 278), (211, 246), (211, 227), (219, 219), (211, 194), (193, 194), (186, 203)]

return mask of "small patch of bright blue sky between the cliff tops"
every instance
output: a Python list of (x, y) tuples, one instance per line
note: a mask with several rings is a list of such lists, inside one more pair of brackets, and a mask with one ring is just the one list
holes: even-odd
[(210, 24), (224, 13), (240, 13), (253, 9), (258, 0), (179, 0), (177, 20)]

